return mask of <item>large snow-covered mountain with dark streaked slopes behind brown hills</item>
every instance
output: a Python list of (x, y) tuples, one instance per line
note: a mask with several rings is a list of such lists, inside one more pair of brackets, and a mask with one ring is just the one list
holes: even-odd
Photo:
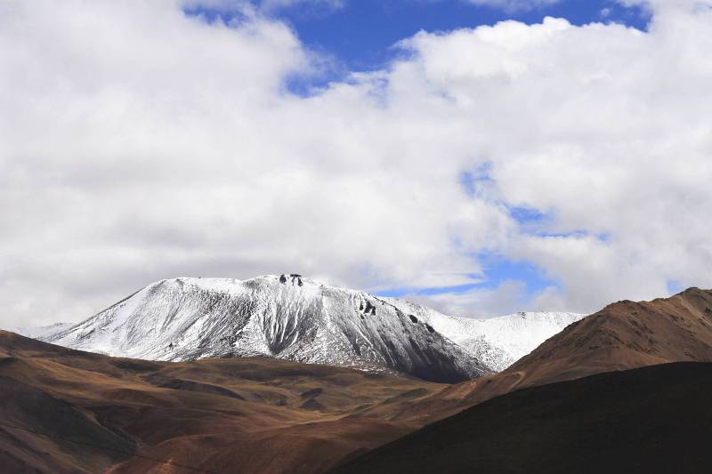
[(434, 382), (490, 373), (393, 301), (298, 276), (162, 280), (82, 323), (37, 338), (129, 358), (269, 356), (391, 369)]

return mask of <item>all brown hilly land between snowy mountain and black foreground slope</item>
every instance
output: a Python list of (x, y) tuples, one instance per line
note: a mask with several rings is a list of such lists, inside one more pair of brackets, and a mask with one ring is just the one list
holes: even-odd
[(712, 292), (619, 301), (505, 372), (441, 385), (269, 358), (158, 363), (0, 332), (12, 472), (320, 472), (514, 390), (712, 361)]

